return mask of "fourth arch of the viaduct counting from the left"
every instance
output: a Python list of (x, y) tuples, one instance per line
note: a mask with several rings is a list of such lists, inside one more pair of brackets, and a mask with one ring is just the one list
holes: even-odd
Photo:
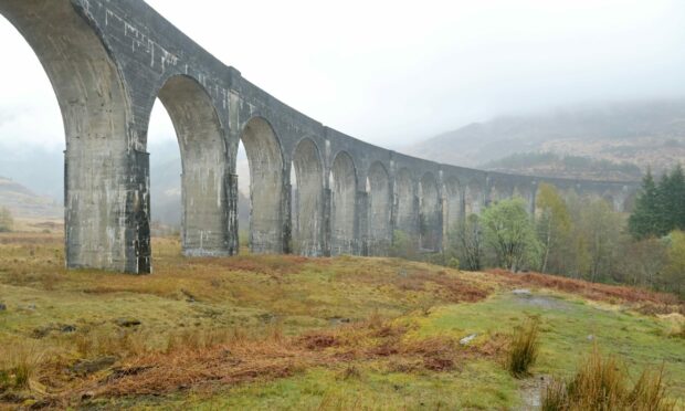
[(304, 138), (293, 152), (297, 199), (293, 215), (293, 252), (318, 256), (323, 253), (324, 168), (314, 140)]

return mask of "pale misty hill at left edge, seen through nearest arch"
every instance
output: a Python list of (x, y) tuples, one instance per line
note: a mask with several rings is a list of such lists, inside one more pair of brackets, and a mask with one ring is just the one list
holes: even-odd
[(53, 198), (38, 196), (9, 178), (0, 177), (0, 205), (10, 209), (14, 217), (61, 218), (63, 207)]

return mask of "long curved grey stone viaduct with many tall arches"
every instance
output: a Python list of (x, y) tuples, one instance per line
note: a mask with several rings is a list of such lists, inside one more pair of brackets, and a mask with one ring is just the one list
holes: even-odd
[(0, 13), (34, 50), (62, 110), (68, 267), (151, 271), (146, 146), (157, 98), (181, 152), (186, 255), (238, 253), (240, 140), (257, 253), (383, 255), (393, 230), (440, 250), (451, 224), (491, 201), (518, 194), (534, 211), (540, 181), (616, 209), (636, 188), (485, 172), (369, 145), (277, 101), (141, 0), (0, 0)]

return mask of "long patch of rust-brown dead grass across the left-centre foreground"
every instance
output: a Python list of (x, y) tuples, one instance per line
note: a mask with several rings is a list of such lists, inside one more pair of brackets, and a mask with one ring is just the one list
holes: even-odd
[[(170, 344), (166, 351), (141, 354), (122, 361), (99, 379), (83, 379), (52, 398), (66, 405), (86, 396), (165, 394), (179, 390), (211, 391), (219, 387), (293, 376), (313, 367), (341, 369), (341, 378), (359, 375), (356, 361), (381, 360), (390, 370), (450, 371), (467, 357), (493, 355), (461, 348), (443, 337), (407, 339), (409, 328), (370, 319), (335, 330), (285, 337), (274, 327), (255, 337), (221, 333)], [(217, 339), (212, 339), (217, 338)], [(214, 344), (215, 342), (215, 344)]]

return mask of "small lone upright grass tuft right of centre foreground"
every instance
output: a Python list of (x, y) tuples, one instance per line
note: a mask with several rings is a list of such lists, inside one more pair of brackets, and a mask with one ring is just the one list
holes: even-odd
[(538, 358), (540, 348), (539, 324), (529, 319), (518, 328), (509, 342), (506, 368), (516, 378), (529, 375), (529, 369)]

